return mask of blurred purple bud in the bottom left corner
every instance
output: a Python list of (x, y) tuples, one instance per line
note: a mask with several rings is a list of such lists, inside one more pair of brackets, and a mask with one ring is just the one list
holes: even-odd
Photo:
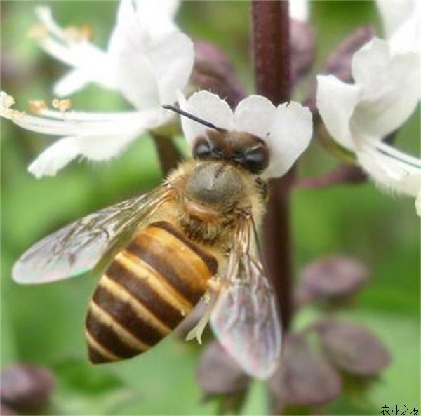
[(55, 385), (55, 377), (50, 370), (25, 363), (3, 370), (0, 380), (1, 403), (18, 410), (36, 410), (46, 405)]

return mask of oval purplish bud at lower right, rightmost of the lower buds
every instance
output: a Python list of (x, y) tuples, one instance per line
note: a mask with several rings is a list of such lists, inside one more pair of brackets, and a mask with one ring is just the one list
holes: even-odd
[(323, 321), (316, 327), (326, 357), (352, 375), (378, 375), (390, 363), (387, 349), (370, 330), (354, 323)]

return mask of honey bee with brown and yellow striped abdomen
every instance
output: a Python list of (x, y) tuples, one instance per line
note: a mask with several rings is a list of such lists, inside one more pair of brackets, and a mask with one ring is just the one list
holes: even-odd
[[(276, 300), (262, 267), (256, 227), (267, 185), (265, 142), (208, 127), (193, 158), (160, 187), (87, 215), (29, 248), (13, 267), (18, 283), (46, 283), (102, 268), (88, 305), (86, 342), (92, 363), (141, 354), (202, 298), (227, 352), (246, 373), (267, 378), (276, 368), (281, 333)], [(191, 335), (192, 335), (191, 334)]]

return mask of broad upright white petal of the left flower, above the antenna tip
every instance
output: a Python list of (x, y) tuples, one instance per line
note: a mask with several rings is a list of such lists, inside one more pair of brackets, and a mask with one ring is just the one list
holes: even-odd
[(122, 1), (109, 41), (119, 90), (138, 109), (171, 104), (192, 72), (193, 43), (175, 29), (164, 34), (152, 32), (150, 22), (139, 13), (131, 2)]

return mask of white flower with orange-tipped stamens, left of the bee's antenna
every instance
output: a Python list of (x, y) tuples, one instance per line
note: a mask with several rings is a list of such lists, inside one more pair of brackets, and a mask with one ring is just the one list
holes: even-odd
[(62, 137), (29, 166), (31, 173), (55, 175), (78, 156), (110, 159), (146, 130), (171, 120), (173, 114), (161, 105), (177, 100), (176, 93), (185, 88), (194, 62), (192, 41), (171, 20), (177, 6), (177, 1), (169, 0), (121, 0), (107, 52), (80, 36), (69, 37), (48, 8), (38, 10), (48, 29), (41, 36), (41, 46), (73, 67), (55, 86), (58, 93), (72, 93), (96, 82), (119, 90), (136, 109), (90, 113), (41, 108), (31, 116), (11, 109), (13, 102), (2, 93), (0, 116), (27, 130)]

